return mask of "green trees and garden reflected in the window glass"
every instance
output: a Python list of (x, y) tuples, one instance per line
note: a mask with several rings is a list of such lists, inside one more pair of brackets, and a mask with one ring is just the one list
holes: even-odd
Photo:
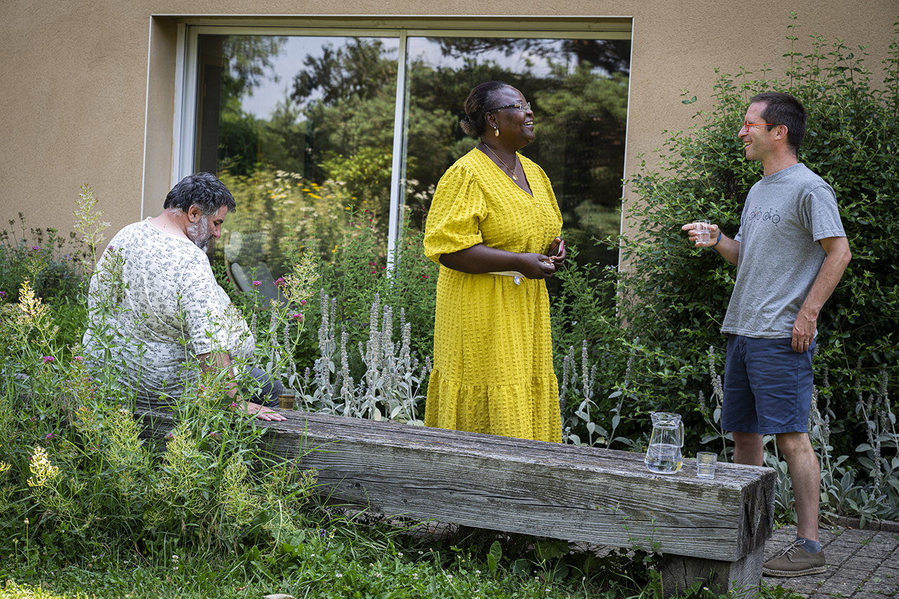
[[(268, 119), (245, 112), (243, 101), (259, 85), (271, 59), (282, 51), (284, 38), (268, 36), (204, 36), (218, 39), (229, 66), (221, 72), (218, 108), (218, 174), (235, 192), (237, 213), (228, 227), (266, 231), (272, 272), (280, 266), (284, 246), (302, 243), (279, 223), (290, 217), (308, 228), (311, 214), (296, 219), (296, 207), (310, 203), (296, 197), (263, 198), (274, 178), (325, 190), (316, 201), (316, 237), (336, 243), (334, 206), (369, 211), (381, 223), (377, 234), (386, 245), (394, 113), (396, 49), (386, 40), (334, 38), (320, 55), (302, 58), (289, 94)], [(433, 40), (429, 40), (432, 42)], [(460, 59), (460, 67), (434, 67), (423, 58), (408, 66), (407, 155), (405, 157), (405, 226), (423, 229), (431, 195), (441, 175), (476, 139), (458, 127), (463, 103), (477, 84), (492, 79), (515, 85), (531, 100), (537, 139), (522, 149), (553, 182), (565, 220), (565, 237), (580, 244), (583, 264), (616, 264), (617, 252), (592, 246), (590, 239), (619, 233), (621, 175), (628, 106), (627, 40), (504, 40), (441, 38), (443, 55)], [(547, 72), (516, 69), (514, 60), (500, 64), (482, 51), (500, 51), (524, 59), (547, 58)], [(525, 54), (527, 52), (527, 54)], [(474, 53), (474, 54), (472, 54)], [(412, 51), (414, 54), (414, 51)], [(569, 67), (568, 63), (574, 65)], [(205, 153), (206, 150), (204, 150)], [(210, 166), (211, 168), (211, 166)], [(268, 189), (265, 188), (265, 189)], [(263, 200), (260, 202), (259, 200)], [(288, 207), (287, 201), (294, 202)], [(327, 201), (334, 201), (325, 208)], [(263, 210), (258, 210), (260, 205)], [(324, 210), (323, 210), (324, 209)], [(330, 225), (317, 219), (331, 212)], [(330, 228), (330, 230), (327, 230)], [(325, 263), (334, 243), (321, 244)], [(275, 273), (277, 275), (277, 273)]]

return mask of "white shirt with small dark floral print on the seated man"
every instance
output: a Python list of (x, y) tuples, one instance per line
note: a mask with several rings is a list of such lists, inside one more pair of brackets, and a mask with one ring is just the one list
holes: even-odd
[[(88, 308), (85, 352), (96, 363), (109, 351), (122, 367), (120, 383), (135, 390), (142, 405), (161, 405), (162, 393), (180, 397), (197, 373), (184, 366), (201, 353), (253, 355), (253, 335), (218, 286), (206, 254), (149, 220), (112, 237), (91, 277)], [(105, 342), (104, 331), (112, 335)]]

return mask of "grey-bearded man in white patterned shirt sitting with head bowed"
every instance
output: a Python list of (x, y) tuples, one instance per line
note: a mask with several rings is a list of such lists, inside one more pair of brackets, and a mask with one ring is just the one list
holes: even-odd
[(84, 346), (95, 363), (120, 368), (120, 383), (138, 406), (162, 407), (181, 397), (203, 369), (225, 371), (227, 394), (261, 420), (284, 420), (282, 386), (249, 368), (257, 381), (238, 390), (233, 360), (248, 360), (255, 340), (218, 285), (203, 248), (221, 235), (236, 209), (227, 187), (208, 173), (191, 174), (165, 197), (162, 214), (112, 237), (91, 278)]

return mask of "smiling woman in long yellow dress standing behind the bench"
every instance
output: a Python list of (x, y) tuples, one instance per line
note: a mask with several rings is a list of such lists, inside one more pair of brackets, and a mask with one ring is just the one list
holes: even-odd
[(565, 261), (547, 174), (517, 150), (534, 113), (501, 81), (477, 85), (462, 130), (480, 143), (441, 177), (424, 253), (441, 264), (424, 424), (561, 442), (546, 279)]

